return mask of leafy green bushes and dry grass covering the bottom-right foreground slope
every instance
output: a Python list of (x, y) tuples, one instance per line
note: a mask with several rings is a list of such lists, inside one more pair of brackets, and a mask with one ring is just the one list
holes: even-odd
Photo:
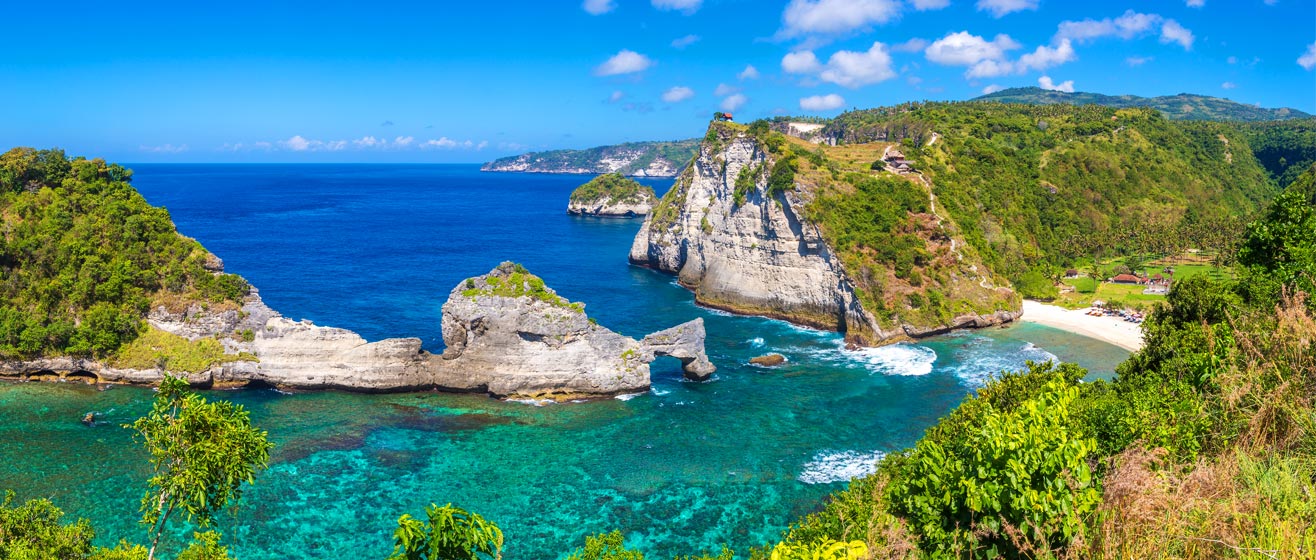
[(1237, 283), (1179, 281), (1113, 383), (1007, 373), (787, 542), (871, 557), (1316, 557), (1316, 196), (1249, 227)]

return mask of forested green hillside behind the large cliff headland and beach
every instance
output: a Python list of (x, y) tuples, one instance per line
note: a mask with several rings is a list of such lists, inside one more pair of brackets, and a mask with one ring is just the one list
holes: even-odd
[(825, 134), (899, 142), (966, 241), (1025, 297), (1049, 289), (1038, 273), (1080, 259), (1217, 248), (1278, 192), (1253, 135), (1152, 109), (908, 104), (841, 114)]

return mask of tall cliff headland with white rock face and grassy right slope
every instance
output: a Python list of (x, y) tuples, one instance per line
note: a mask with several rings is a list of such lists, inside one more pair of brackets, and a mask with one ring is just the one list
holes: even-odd
[(953, 223), (928, 208), (930, 189), (875, 170), (880, 155), (715, 122), (629, 260), (675, 273), (700, 305), (859, 346), (1017, 318), (1017, 296), (979, 272)]

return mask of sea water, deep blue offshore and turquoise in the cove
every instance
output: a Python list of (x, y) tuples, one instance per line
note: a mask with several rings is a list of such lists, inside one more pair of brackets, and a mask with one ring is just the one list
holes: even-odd
[[(707, 322), (716, 376), (684, 383), (679, 363), (662, 359), (653, 390), (629, 400), (209, 393), (247, 406), (278, 444), (218, 527), (245, 560), (384, 557), (397, 517), (432, 502), (496, 522), (512, 560), (557, 559), (615, 528), (650, 559), (722, 544), (744, 553), (871, 472), (882, 454), (911, 446), (996, 372), (1058, 358), (1109, 376), (1128, 355), (1037, 325), (849, 352), (832, 333), (700, 309), (671, 276), (626, 263), (638, 220), (566, 214), (580, 176), (430, 164), (132, 167), (142, 195), (270, 306), (367, 339), (418, 337), (441, 350), (447, 292), (501, 260), (525, 264), (626, 335)], [(671, 185), (645, 183), (659, 193)], [(790, 362), (745, 365), (766, 352)], [(151, 396), (0, 384), (0, 488), (93, 519), (100, 544), (143, 540), (145, 454), (118, 425)], [(91, 410), (107, 422), (83, 426)]]

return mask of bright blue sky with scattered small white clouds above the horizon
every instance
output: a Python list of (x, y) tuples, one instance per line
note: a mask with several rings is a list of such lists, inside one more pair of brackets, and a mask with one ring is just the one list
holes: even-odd
[(1316, 113), (1311, 0), (13, 3), (0, 146), (483, 162), (1045, 85)]

